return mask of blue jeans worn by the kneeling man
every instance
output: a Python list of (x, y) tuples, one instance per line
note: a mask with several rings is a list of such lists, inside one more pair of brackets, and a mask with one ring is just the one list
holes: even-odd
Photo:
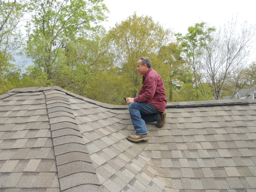
[(145, 122), (158, 122), (160, 112), (151, 104), (132, 102), (129, 104), (128, 109), (137, 135), (148, 133)]

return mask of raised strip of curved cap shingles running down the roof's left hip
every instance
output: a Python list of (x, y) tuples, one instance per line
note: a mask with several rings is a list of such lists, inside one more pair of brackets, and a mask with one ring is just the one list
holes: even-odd
[[(59, 92), (56, 92), (55, 90), (58, 90)], [(51, 87), (50, 91), (48, 91), (48, 89), (43, 90), (46, 100), (46, 108), (48, 110), (50, 130), (52, 132), (52, 141), (54, 154), (56, 157), (60, 190), (72, 189), (75, 191), (76, 188), (80, 187), (81, 185), (86, 187), (87, 184), (93, 184), (94, 187), (99, 191), (100, 182), (98, 180), (98, 176), (96, 175), (95, 169), (92, 168), (92, 160), (88, 154), (86, 142), (84, 142), (84, 139), (80, 133), (74, 114), (69, 113), (66, 114), (66, 116), (57, 117), (50, 115), (56, 111), (49, 111), (49, 109), (58, 109), (63, 107), (63, 104), (65, 104), (65, 108), (72, 111), (70, 102), (66, 101), (68, 100), (68, 96), (66, 93), (63, 94), (61, 90), (61, 88), (56, 86)], [(52, 94), (54, 94), (54, 98), (58, 100), (58, 102), (52, 103)], [(65, 100), (63, 100), (63, 102), (59, 101), (58, 96), (65, 98)], [(48, 99), (50, 99), (50, 103)], [(72, 128), (70, 129), (69, 126), (63, 124), (65, 122), (72, 122)], [(68, 147), (68, 144), (70, 143), (81, 145), (81, 150), (70, 151), (70, 148)]]

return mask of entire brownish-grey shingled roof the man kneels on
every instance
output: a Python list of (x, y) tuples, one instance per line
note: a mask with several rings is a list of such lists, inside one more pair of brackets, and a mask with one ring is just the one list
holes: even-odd
[(168, 103), (166, 124), (134, 133), (126, 105), (60, 87), (0, 96), (1, 191), (256, 190), (256, 102)]

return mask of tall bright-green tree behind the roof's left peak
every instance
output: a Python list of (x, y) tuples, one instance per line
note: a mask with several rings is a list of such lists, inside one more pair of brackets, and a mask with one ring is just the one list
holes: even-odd
[[(30, 1), (32, 20), (27, 25), (27, 56), (33, 60), (37, 70), (45, 74), (45, 84), (67, 86), (68, 78), (64, 79), (66, 73), (70, 78), (72, 70), (77, 68), (77, 61), (84, 59), (81, 52), (88, 51), (80, 48), (78, 53), (74, 47), (76, 44), (81, 45), (81, 39), (88, 40), (99, 32), (97, 24), (105, 19), (104, 12), (107, 9), (102, 1)], [(91, 43), (90, 40), (88, 42)], [(82, 58), (72, 58), (72, 54), (80, 54)]]

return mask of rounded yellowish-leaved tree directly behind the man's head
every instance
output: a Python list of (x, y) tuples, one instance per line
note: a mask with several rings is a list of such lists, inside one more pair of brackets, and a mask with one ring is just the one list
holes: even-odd
[(138, 96), (141, 87), (141, 76), (136, 71), (138, 59), (148, 56), (153, 68), (157, 69), (159, 60), (156, 55), (162, 46), (168, 44), (170, 35), (170, 30), (155, 23), (151, 17), (139, 17), (136, 13), (109, 31), (115, 62), (122, 71), (126, 96)]

